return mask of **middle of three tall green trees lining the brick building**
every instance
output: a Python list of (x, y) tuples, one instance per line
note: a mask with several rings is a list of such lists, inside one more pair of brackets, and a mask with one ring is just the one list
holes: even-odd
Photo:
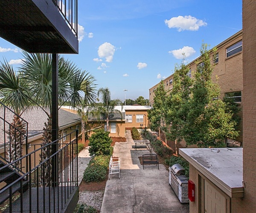
[(166, 100), (165, 119), (169, 127), (166, 131), (169, 137), (175, 140), (175, 144), (183, 139), (192, 86), (192, 79), (188, 75), (189, 68), (184, 61), (185, 57), (180, 65), (175, 66), (173, 88)]

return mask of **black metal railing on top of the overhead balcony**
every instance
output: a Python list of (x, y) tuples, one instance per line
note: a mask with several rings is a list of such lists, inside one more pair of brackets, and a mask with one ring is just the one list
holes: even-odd
[(52, 0), (62, 17), (78, 38), (78, 0)]

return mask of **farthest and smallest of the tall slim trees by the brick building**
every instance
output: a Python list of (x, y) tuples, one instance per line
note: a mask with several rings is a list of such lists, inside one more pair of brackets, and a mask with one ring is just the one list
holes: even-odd
[(155, 91), (153, 108), (148, 110), (148, 118), (151, 122), (151, 128), (159, 132), (161, 139), (161, 129), (165, 127), (165, 111), (166, 111), (166, 90), (164, 89), (164, 83), (161, 81)]

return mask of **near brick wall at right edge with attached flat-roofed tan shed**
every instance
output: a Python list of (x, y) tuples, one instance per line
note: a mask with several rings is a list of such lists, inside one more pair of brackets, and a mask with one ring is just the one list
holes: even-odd
[(195, 201), (189, 212), (256, 212), (256, 1), (243, 0), (243, 148), (180, 149)]

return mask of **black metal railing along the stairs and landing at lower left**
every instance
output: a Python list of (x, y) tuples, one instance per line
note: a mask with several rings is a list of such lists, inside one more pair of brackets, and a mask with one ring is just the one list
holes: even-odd
[[(76, 132), (76, 137), (72, 139), (71, 135), (74, 132)], [(59, 144), (58, 142), (64, 137), (70, 142)], [(4, 212), (61, 212), (67, 207), (69, 199), (78, 189), (77, 143), (78, 130), (74, 130), (47, 145), (36, 144), (34, 147), (40, 148), (0, 167), (0, 173), (4, 173), (7, 168), (14, 168), (18, 161), (28, 162), (28, 170), (20, 171), (19, 178), (0, 190), (0, 196), (6, 193), (12, 195), (8, 198), (9, 202), (6, 201), (8, 207)], [(52, 146), (56, 145), (58, 151), (51, 154)], [(48, 157), (42, 160), (39, 157), (45, 149), (48, 150)], [(52, 173), (53, 164), (56, 166), (56, 173)]]

